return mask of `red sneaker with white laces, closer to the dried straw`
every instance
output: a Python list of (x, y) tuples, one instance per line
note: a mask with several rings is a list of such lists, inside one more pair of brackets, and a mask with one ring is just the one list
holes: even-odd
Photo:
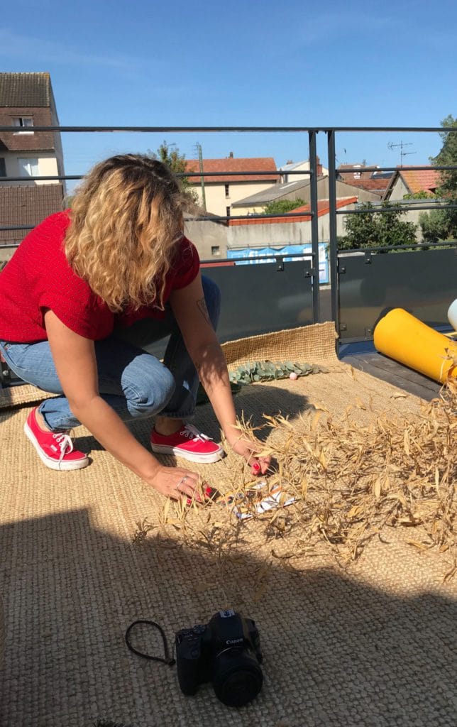
[(189, 459), (190, 462), (217, 462), (222, 459), (224, 450), (210, 437), (202, 434), (196, 427), (186, 424), (174, 434), (165, 436), (153, 429), (150, 446), (159, 454), (175, 454), (176, 457)]

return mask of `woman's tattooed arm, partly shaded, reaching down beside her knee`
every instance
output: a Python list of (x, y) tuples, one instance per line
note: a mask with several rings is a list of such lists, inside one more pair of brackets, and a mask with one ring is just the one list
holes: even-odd
[[(240, 430), (236, 427), (237, 419), (227, 364), (206, 310), (201, 275), (198, 274), (197, 278), (185, 288), (172, 292), (170, 304), (187, 351), (228, 443), (249, 461), (255, 455), (255, 451), (262, 449), (262, 445), (240, 438)], [(262, 457), (259, 463), (262, 473), (265, 473), (270, 465), (270, 458)]]

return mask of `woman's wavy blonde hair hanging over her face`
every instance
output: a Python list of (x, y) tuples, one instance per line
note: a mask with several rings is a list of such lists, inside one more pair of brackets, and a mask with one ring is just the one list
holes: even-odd
[(65, 254), (114, 313), (155, 302), (182, 238), (183, 196), (169, 168), (148, 156), (100, 162), (73, 198)]

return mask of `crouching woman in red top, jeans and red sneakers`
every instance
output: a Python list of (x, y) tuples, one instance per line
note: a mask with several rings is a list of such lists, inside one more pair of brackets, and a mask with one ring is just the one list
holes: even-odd
[[(155, 416), (153, 453), (216, 462), (222, 448), (189, 423), (201, 381), (229, 446), (267, 471), (260, 443), (236, 428), (214, 332), (219, 289), (201, 278), (183, 229), (169, 169), (147, 156), (114, 156), (89, 172), (72, 209), (25, 237), (2, 271), (0, 350), (17, 376), (57, 394), (25, 423), (47, 467), (86, 467), (68, 433), (83, 424), (162, 494), (196, 496), (198, 475), (161, 465), (125, 422)], [(163, 364), (141, 348), (169, 334)]]

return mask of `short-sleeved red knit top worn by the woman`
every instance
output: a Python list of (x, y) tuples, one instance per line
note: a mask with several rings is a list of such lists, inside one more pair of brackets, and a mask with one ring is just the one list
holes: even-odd
[[(24, 238), (0, 273), (0, 340), (33, 343), (47, 339), (44, 313), (57, 318), (80, 336), (100, 340), (114, 326), (130, 326), (142, 318), (163, 318), (155, 302), (139, 310), (112, 313), (68, 265), (63, 248), (70, 224), (69, 210), (57, 212)], [(184, 288), (198, 274), (195, 246), (183, 237), (176, 262), (166, 276), (163, 302), (172, 290)]]

